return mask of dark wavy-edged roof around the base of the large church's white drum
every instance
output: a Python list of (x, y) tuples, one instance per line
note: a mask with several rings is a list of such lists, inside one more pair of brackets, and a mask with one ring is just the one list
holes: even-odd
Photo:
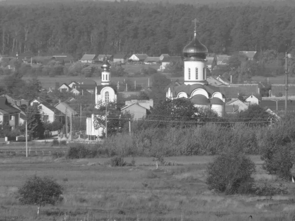
[(219, 90), (220, 87), (215, 87), (215, 86), (206, 85), (206, 84), (202, 85), (200, 83), (189, 84), (189, 85), (182, 84), (179, 86), (170, 87), (170, 90), (172, 92), (173, 97), (176, 97), (179, 92), (185, 92), (188, 96), (190, 96), (191, 93), (197, 88), (205, 89), (209, 93), (210, 96), (214, 92), (221, 92)]

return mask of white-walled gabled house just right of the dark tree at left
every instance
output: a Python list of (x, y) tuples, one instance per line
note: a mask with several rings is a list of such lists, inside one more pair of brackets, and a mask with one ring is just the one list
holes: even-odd
[(61, 112), (55, 107), (48, 104), (46, 101), (40, 99), (40, 97), (34, 99), (30, 103), (30, 106), (34, 105), (38, 106), (43, 122), (54, 122), (56, 120), (61, 121)]

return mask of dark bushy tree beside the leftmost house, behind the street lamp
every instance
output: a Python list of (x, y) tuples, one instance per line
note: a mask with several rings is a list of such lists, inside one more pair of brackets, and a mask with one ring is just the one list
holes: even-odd
[(28, 121), (28, 135), (32, 138), (42, 138), (44, 136), (44, 127), (38, 106), (29, 106), (26, 117)]

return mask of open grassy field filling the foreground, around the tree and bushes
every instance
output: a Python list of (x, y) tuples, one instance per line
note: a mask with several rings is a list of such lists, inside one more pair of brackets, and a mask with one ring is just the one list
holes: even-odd
[[(262, 169), (259, 156), (255, 179), (273, 180)], [(135, 167), (109, 167), (108, 159), (65, 160), (51, 157), (0, 159), (0, 220), (61, 221), (291, 221), (295, 186), (290, 194), (265, 197), (231, 195), (207, 190), (207, 156), (171, 157), (166, 161), (183, 166), (152, 166), (149, 158), (136, 158)], [(131, 162), (131, 158), (125, 161)], [(64, 202), (41, 208), (21, 205), (14, 198), (17, 188), (31, 175), (50, 175), (65, 188)]]

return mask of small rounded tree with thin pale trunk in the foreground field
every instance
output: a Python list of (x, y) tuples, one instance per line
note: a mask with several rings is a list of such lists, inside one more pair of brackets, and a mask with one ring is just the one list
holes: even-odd
[(55, 205), (62, 199), (63, 188), (51, 177), (29, 177), (25, 184), (19, 188), (16, 198), (23, 204), (37, 206), (37, 214), (40, 214), (41, 206)]

